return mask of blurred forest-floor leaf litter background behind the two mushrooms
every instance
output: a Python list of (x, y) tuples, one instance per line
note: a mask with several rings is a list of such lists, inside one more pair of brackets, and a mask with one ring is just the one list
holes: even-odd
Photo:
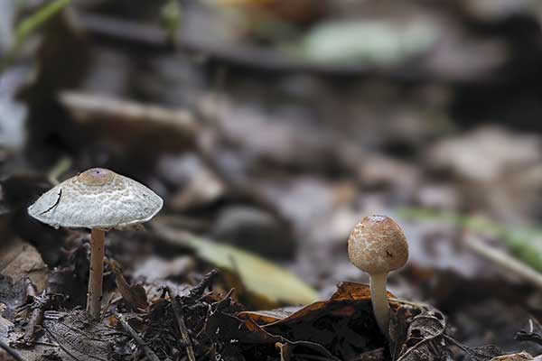
[[(2, 237), (55, 267), (67, 236), (25, 208), (104, 167), (164, 198), (151, 231), (325, 298), (368, 282), (346, 240), (385, 214), (411, 246), (389, 290), (506, 349), (542, 316), (541, 22), (537, 0), (2, 1)], [(108, 240), (135, 276), (199, 267), (145, 237)]]

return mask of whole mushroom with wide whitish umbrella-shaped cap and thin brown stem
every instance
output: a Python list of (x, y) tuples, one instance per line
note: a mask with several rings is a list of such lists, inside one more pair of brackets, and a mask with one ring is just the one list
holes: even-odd
[(42, 194), (28, 213), (52, 227), (90, 228), (87, 310), (99, 318), (105, 233), (135, 227), (153, 218), (164, 200), (143, 184), (103, 168), (83, 171)]

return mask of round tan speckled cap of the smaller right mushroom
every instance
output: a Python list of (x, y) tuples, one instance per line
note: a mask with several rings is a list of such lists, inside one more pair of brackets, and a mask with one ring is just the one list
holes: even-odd
[(361, 271), (388, 273), (406, 264), (408, 243), (393, 219), (373, 215), (363, 218), (350, 233), (348, 255)]

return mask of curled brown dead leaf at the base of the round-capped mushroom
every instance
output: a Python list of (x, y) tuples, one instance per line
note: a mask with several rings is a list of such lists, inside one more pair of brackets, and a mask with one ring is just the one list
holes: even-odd
[[(388, 293), (389, 297), (393, 297)], [(401, 308), (390, 300), (392, 310)], [(301, 309), (288, 308), (266, 311), (238, 312), (240, 319), (250, 319), (266, 332), (294, 341), (308, 341), (321, 345), (341, 359), (377, 356), (387, 346), (378, 331), (370, 303), (369, 286), (355, 282), (341, 282), (327, 301), (316, 301)], [(405, 327), (406, 329), (406, 327)], [(370, 358), (367, 358), (370, 359)]]

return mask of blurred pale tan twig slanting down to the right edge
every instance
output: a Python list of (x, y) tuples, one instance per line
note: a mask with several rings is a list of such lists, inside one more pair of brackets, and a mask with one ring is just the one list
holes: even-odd
[(478, 255), (490, 260), (494, 264), (498, 264), (501, 269), (517, 274), (525, 281), (531, 282), (542, 289), (542, 274), (537, 273), (537, 271), (521, 263), (516, 258), (497, 248), (484, 244), (478, 237), (473, 235), (467, 235), (464, 244)]

